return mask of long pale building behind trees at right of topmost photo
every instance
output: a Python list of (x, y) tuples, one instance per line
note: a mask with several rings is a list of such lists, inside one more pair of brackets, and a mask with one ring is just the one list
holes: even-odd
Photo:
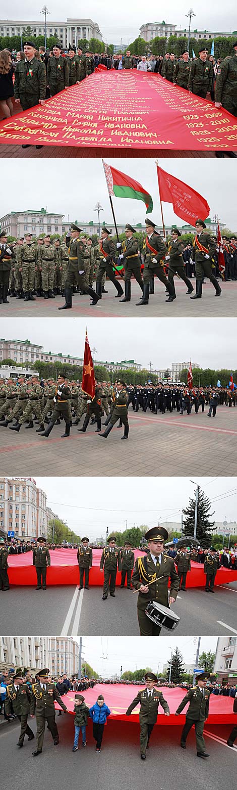
[[(188, 28), (177, 28), (176, 24), (171, 24), (169, 22), (146, 22), (146, 24), (142, 24), (142, 27), (139, 28), (140, 36), (144, 41), (153, 41), (155, 38), (165, 38), (168, 39), (169, 36), (176, 36), (177, 39), (180, 38), (187, 38), (188, 39)], [(210, 31), (210, 30), (191, 30), (190, 32), (191, 39), (195, 39), (196, 41), (200, 41), (200, 39), (206, 39), (206, 41), (216, 39), (218, 36), (228, 37), (228, 36), (235, 36), (236, 38), (236, 31), (234, 32), (220, 32), (220, 31)]]

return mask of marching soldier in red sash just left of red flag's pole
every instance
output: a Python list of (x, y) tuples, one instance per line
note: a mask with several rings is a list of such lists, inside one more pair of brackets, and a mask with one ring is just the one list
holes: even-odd
[(147, 235), (144, 242), (143, 299), (136, 303), (137, 307), (140, 307), (142, 304), (148, 304), (150, 277), (154, 274), (157, 275), (158, 280), (161, 280), (161, 283), (164, 283), (165, 288), (167, 288), (169, 295), (166, 302), (172, 302), (173, 299), (176, 299), (174, 288), (172, 284), (168, 282), (164, 272), (164, 264), (161, 262), (162, 258), (164, 259), (168, 254), (167, 246), (165, 242), (162, 241), (160, 234), (155, 231), (154, 222), (152, 222), (152, 220), (145, 220), (145, 224)]

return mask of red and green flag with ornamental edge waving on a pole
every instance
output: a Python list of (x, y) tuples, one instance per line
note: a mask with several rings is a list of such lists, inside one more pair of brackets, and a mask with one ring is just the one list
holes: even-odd
[(153, 210), (153, 200), (149, 192), (143, 189), (143, 186), (138, 181), (131, 179), (130, 175), (121, 173), (115, 167), (110, 167), (102, 160), (106, 182), (109, 190), (109, 195), (116, 198), (133, 198), (134, 200), (143, 200), (146, 204), (146, 214), (150, 214)]

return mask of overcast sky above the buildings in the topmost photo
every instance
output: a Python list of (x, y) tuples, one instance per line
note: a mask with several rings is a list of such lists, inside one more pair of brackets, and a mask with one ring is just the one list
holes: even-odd
[[(189, 10), (187, 0), (180, 0), (178, 6), (176, 0), (169, 0), (159, 5), (155, 0), (150, 0), (148, 9), (145, 9), (143, 0), (120, 0), (118, 4), (112, 5), (110, 0), (88, 0), (87, 6), (78, 6), (76, 0), (70, 0), (69, 6), (65, 7), (64, 0), (50, 0), (47, 4), (50, 11), (49, 21), (66, 21), (66, 18), (78, 19), (79, 17), (90, 17), (102, 32), (103, 40), (107, 43), (128, 43), (134, 41), (139, 36), (139, 28), (146, 22), (162, 21), (168, 24), (176, 24), (176, 29), (188, 28), (189, 21), (186, 14)], [(25, 19), (27, 21), (41, 21), (43, 14), (39, 13), (41, 3), (37, 4), (31, 0), (24, 0), (24, 6), (19, 6), (17, 0), (2, 0), (1, 15), (2, 19)], [(204, 30), (209, 28), (211, 31), (229, 32), (236, 28), (236, 17), (232, 0), (220, 2), (216, 0), (215, 6), (208, 5), (206, 0), (198, 0), (194, 5), (195, 16), (192, 19), (191, 28)]]

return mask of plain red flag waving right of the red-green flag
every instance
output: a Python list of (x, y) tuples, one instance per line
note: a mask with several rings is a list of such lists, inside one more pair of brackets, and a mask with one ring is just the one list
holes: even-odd
[(161, 170), (157, 165), (157, 177), (161, 201), (172, 203), (174, 213), (181, 220), (194, 225), (196, 220), (206, 220), (209, 216), (209, 205), (202, 195), (180, 179)]

